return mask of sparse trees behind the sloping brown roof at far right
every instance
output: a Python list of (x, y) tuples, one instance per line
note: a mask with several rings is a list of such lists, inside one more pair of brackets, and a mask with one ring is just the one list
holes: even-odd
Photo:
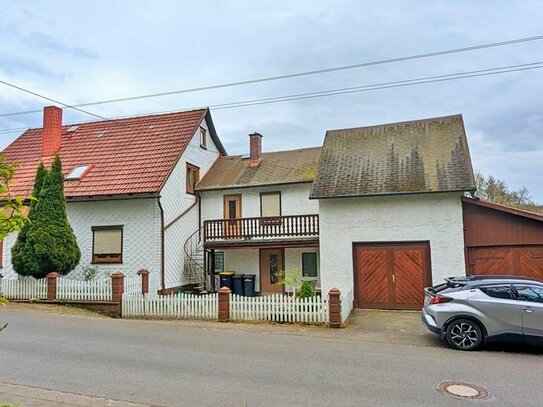
[(526, 187), (512, 191), (504, 181), (493, 177), (484, 176), (480, 172), (475, 174), (477, 196), (487, 201), (500, 205), (513, 206), (519, 209), (539, 211), (540, 207), (532, 200)]

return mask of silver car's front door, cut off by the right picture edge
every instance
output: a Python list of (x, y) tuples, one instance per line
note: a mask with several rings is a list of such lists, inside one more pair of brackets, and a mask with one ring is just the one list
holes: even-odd
[(543, 288), (516, 285), (524, 335), (543, 337)]

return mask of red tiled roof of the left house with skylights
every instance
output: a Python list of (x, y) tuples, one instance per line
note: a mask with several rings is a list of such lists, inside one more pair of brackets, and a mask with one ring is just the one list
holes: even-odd
[[(81, 180), (65, 183), (66, 197), (159, 192), (204, 118), (219, 151), (226, 154), (208, 109), (62, 126), (59, 154), (64, 174), (90, 166)], [(77, 129), (69, 132), (74, 126)], [(13, 194), (31, 193), (42, 144), (42, 129), (30, 129), (4, 150), (7, 162), (19, 164)], [(43, 161), (48, 165), (52, 157)]]

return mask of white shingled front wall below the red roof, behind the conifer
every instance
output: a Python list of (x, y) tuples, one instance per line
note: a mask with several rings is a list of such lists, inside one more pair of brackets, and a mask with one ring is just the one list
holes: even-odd
[[(68, 202), (68, 221), (72, 225), (81, 260), (72, 277), (82, 277), (83, 267), (92, 262), (92, 227), (123, 226), (123, 263), (97, 264), (100, 275), (122, 271), (135, 275), (141, 268), (160, 275), (160, 212), (156, 198), (109, 201)], [(16, 276), (11, 266), (11, 248), (16, 235), (4, 241), (4, 268), (6, 277)]]

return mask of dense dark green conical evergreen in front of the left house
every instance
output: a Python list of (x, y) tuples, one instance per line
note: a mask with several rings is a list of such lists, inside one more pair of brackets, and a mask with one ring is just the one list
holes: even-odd
[[(37, 179), (38, 188), (39, 183)], [(20, 275), (43, 278), (52, 271), (68, 274), (79, 263), (81, 252), (66, 215), (64, 176), (58, 155), (51, 171), (45, 174), (21, 243), (21, 255), (13, 263)]]

